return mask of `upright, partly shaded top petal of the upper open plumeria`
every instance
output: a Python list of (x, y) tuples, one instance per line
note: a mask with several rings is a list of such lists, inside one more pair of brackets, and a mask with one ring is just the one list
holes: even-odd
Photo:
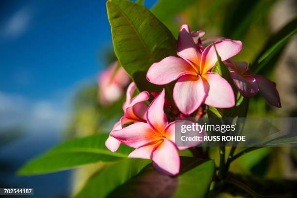
[(198, 66), (201, 52), (195, 44), (188, 25), (182, 25), (178, 38), (178, 55), (188, 61), (192, 66)]

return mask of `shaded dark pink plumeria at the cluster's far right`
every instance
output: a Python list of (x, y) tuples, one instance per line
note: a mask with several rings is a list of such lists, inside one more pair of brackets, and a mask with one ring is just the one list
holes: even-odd
[(280, 95), (274, 82), (264, 76), (253, 74), (247, 68), (247, 63), (235, 63), (228, 60), (225, 64), (231, 67), (230, 76), (244, 97), (250, 98), (260, 92), (271, 105), (281, 107)]

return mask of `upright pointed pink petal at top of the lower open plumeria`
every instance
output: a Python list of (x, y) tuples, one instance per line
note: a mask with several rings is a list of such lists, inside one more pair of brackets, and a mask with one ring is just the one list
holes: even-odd
[(147, 111), (147, 122), (155, 132), (162, 135), (167, 125), (167, 117), (164, 113), (165, 90), (150, 103)]

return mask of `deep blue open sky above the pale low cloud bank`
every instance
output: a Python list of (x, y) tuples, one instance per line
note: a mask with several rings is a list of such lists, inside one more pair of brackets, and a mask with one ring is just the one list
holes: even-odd
[(6, 8), (0, 27), (20, 27), (1, 31), (2, 91), (45, 99), (103, 68), (99, 52), (111, 46), (103, 0), (9, 1)]

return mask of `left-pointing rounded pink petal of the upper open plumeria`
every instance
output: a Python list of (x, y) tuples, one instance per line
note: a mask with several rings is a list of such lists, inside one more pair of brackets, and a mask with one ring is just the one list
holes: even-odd
[(185, 60), (169, 56), (149, 67), (147, 79), (154, 84), (167, 84), (185, 74), (195, 75), (195, 69)]

